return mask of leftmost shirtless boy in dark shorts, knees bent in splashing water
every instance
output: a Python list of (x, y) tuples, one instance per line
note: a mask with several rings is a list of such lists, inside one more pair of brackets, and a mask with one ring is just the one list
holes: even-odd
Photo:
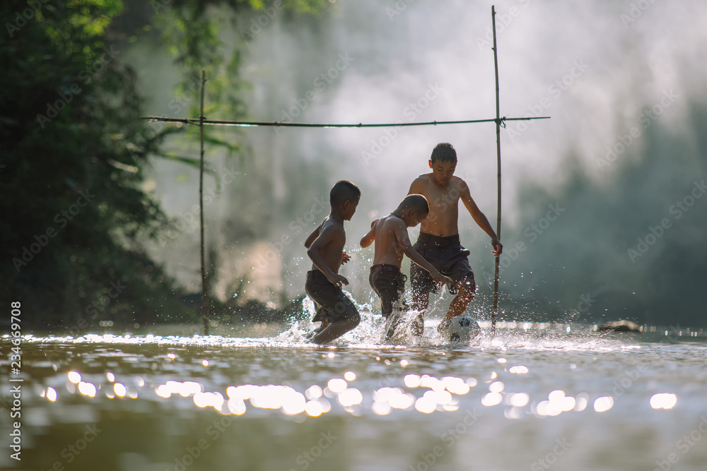
[(322, 323), (310, 342), (331, 342), (361, 322), (356, 306), (341, 291), (341, 285), (348, 285), (349, 280), (339, 275), (341, 264), (349, 261), (349, 256), (344, 253), (344, 221), (350, 221), (354, 216), (359, 199), (361, 190), (358, 186), (351, 181), (337, 181), (329, 192), (331, 212), (305, 242), (307, 255), (312, 259), (312, 270), (307, 272), (305, 292), (317, 308), (312, 322)]

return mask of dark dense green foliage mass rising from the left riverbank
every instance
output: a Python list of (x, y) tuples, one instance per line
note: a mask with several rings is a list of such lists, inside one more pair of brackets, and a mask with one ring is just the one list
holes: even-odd
[[(26, 8), (6, 2), (2, 23)], [(0, 76), (0, 292), (35, 328), (189, 315), (138, 242), (166, 220), (141, 183), (171, 131), (139, 119), (134, 71), (107, 45), (120, 11), (119, 1), (46, 4), (0, 40), (0, 61), (13, 64)]]

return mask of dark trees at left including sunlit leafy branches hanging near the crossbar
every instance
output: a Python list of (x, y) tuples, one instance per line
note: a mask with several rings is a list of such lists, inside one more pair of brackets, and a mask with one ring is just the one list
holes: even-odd
[[(276, 6), (297, 15), (324, 3)], [(31, 313), (25, 326), (34, 328), (196, 321), (182, 302), (185, 287), (146, 251), (151, 241), (169, 240), (174, 225), (145, 185), (153, 159), (198, 165), (194, 155), (160, 149), (166, 137), (192, 133), (189, 141), (194, 131), (141, 119), (144, 97), (122, 52), (160, 42), (182, 76), (175, 96), (193, 95), (195, 81), (198, 93), (205, 70), (209, 103), (243, 117), (242, 44), (224, 47), (219, 30), (274, 5), (88, 0), (0, 8), (0, 298), (21, 300)], [(180, 103), (182, 114), (198, 115), (194, 100)], [(235, 140), (209, 144), (240, 151)]]

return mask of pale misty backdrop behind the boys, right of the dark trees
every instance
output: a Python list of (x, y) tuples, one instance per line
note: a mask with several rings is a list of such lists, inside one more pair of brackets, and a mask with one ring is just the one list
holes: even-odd
[[(248, 119), (491, 119), (495, 4), (501, 115), (551, 117), (508, 121), (501, 133), (502, 317), (707, 325), (707, 197), (700, 186), (707, 162), (707, 4), (332, 3), (318, 17), (254, 13), (223, 34), (227, 49), (241, 47)], [(187, 116), (198, 94), (175, 95), (179, 77), (160, 44), (136, 42), (123, 59), (138, 72), (148, 114)], [(207, 118), (235, 119), (218, 114), (218, 107)], [(493, 123), (206, 131), (241, 146), (233, 155), (206, 148), (213, 171), (204, 186), (217, 190), (206, 205), (206, 239), (217, 267), (212, 291), (221, 300), (238, 294), (280, 306), (303, 294), (311, 265), (303, 242), (328, 213), (332, 184), (349, 179), (363, 196), (346, 225), (353, 259), (341, 273), (358, 303), (373, 299), (375, 312), (368, 286), (373, 250), (359, 249), (358, 239), (428, 172), (439, 142), (455, 146), (455, 174), (496, 227)], [(198, 156), (193, 140), (175, 138), (168, 146)], [(198, 292), (198, 212), (192, 208), (198, 172), (152, 162), (146, 189), (173, 217), (175, 230), (150, 253)], [(459, 227), (479, 287), (470, 309), (488, 318), (490, 241), (463, 207)], [(411, 239), (418, 231), (409, 231)], [(406, 260), (404, 272), (408, 267)], [(440, 314), (449, 294), (443, 300)]]

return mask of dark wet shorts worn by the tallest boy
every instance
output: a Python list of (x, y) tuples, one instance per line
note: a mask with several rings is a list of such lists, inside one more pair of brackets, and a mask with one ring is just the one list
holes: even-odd
[[(454, 283), (447, 283), (449, 292), (457, 293), (456, 285), (463, 282), (474, 292), (477, 284), (474, 282), (474, 271), (469, 265), (469, 251), (462, 247), (459, 234), (450, 237), (438, 237), (420, 232), (413, 248), (431, 263), (443, 275), (451, 278)], [(420, 293), (438, 292), (438, 285), (430, 273), (417, 263), (410, 263), (410, 279), (412, 289)]]

